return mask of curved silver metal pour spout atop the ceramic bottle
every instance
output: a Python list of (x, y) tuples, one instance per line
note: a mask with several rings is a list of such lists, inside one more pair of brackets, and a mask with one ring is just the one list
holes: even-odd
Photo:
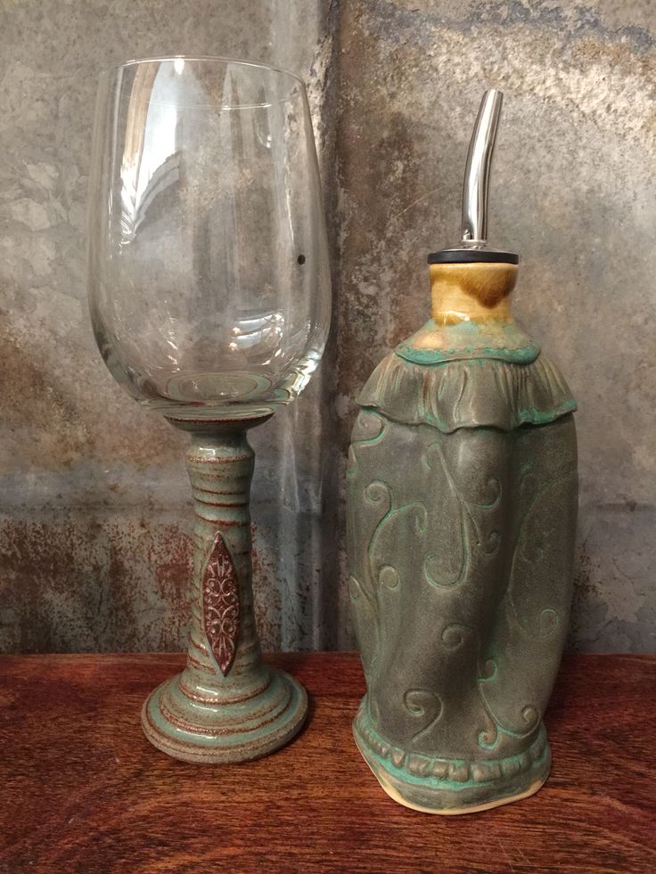
[(463, 184), (462, 241), (467, 249), (483, 249), (488, 241), (489, 173), (503, 102), (503, 92), (486, 91), (471, 134)]

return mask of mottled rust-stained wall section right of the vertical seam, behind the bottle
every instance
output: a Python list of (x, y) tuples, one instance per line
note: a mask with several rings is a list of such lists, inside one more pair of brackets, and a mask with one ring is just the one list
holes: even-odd
[(656, 6), (351, 0), (340, 20), (339, 396), (429, 312), (471, 125), (505, 93), (490, 242), (579, 402), (572, 645), (656, 649)]

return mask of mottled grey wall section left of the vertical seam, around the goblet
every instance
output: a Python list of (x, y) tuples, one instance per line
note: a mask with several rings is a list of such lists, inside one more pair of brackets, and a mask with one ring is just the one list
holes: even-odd
[[(294, 69), (309, 86), (327, 181), (332, 16), (306, 0), (0, 4), (0, 649), (184, 644), (186, 437), (114, 383), (87, 314), (98, 72), (171, 53)], [(329, 560), (337, 550), (334, 525), (331, 535), (321, 524), (336, 477), (322, 443), (333, 418), (325, 374), (251, 438), (256, 600), (267, 649), (320, 649), (332, 640), (335, 611), (320, 584), (328, 576), (324, 536)]]

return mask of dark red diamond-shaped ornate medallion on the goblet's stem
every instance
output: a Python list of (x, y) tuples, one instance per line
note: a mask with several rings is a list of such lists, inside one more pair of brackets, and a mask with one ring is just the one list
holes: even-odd
[(217, 534), (202, 580), (205, 633), (225, 676), (233, 664), (239, 637), (239, 582), (223, 537)]

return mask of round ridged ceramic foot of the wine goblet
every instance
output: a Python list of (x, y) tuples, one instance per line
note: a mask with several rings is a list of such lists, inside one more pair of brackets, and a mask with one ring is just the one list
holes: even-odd
[(283, 747), (307, 715), (307, 694), (283, 671), (247, 700), (219, 702), (190, 692), (177, 674), (143, 703), (143, 732), (153, 746), (183, 762), (246, 762)]

